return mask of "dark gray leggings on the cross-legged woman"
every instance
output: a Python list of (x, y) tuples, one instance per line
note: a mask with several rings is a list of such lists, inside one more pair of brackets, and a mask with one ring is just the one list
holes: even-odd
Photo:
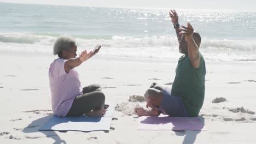
[(78, 95), (68, 111), (66, 117), (84, 115), (91, 110), (102, 110), (105, 104), (105, 95), (101, 86), (94, 84), (83, 88), (83, 94)]

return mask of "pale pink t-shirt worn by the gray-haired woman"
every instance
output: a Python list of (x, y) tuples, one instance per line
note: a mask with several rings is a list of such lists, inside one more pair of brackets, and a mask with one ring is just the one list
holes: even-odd
[(66, 61), (67, 59), (57, 58), (49, 68), (51, 107), (54, 114), (59, 117), (65, 117), (75, 97), (83, 94), (77, 71), (71, 69), (68, 74), (66, 73)]

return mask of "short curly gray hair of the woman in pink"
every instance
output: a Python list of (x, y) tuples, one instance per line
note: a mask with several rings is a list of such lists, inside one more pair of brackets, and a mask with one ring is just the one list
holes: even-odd
[(54, 55), (61, 57), (62, 50), (70, 50), (75, 45), (75, 39), (71, 35), (60, 35), (54, 43)]

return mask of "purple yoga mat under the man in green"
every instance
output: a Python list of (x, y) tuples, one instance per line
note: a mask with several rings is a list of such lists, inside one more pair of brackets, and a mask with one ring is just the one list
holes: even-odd
[(138, 130), (206, 130), (199, 117), (169, 117), (167, 115), (139, 117)]

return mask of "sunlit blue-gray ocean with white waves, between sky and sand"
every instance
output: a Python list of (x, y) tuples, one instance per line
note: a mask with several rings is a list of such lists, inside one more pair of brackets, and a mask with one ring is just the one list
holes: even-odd
[[(102, 44), (106, 57), (177, 60), (178, 41), (169, 9), (97, 8), (0, 3), (0, 52), (53, 53), (61, 34), (78, 53)], [(207, 61), (256, 61), (256, 11), (176, 9), (202, 37)]]

